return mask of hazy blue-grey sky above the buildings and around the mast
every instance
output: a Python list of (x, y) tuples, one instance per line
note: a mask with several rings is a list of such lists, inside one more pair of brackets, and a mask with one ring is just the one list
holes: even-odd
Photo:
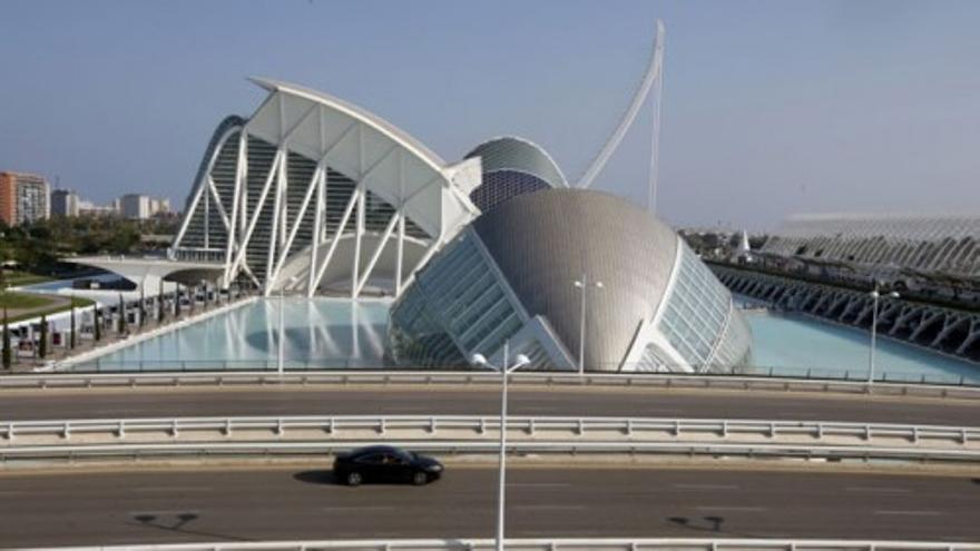
[[(667, 24), (659, 213), (758, 229), (797, 211), (978, 211), (980, 2), (0, 3), (0, 169), (99, 201), (183, 204), (207, 139), (263, 92), (359, 104), (447, 159), (492, 136), (570, 179)], [(596, 183), (645, 197), (649, 111)]]

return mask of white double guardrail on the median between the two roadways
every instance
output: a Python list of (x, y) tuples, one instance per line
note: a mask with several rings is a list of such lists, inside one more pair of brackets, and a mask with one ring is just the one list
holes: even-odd
[[(312, 431), (312, 432), (311, 432)], [(0, 424), (0, 460), (332, 454), (369, 443), (493, 453), (492, 416), (199, 417)], [(980, 461), (980, 429), (791, 421), (513, 417), (517, 453)], [(268, 434), (266, 434), (268, 432)], [(237, 436), (237, 437), (236, 437)], [(272, 439), (270, 440), (270, 436)], [(68, 443), (68, 441), (71, 441)]]

